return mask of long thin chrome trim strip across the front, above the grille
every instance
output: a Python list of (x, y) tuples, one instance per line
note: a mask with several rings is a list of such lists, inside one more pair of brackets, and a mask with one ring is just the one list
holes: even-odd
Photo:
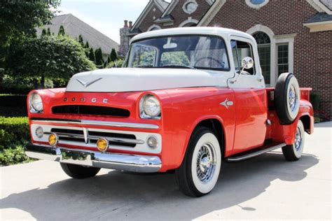
[(66, 121), (66, 120), (32, 120), (32, 123), (46, 123), (46, 124), (79, 124), (79, 125), (90, 125), (90, 126), (107, 126), (107, 127), (127, 127), (127, 128), (138, 128), (138, 129), (159, 129), (158, 125), (155, 124), (139, 124), (139, 123), (128, 123), (128, 122), (111, 122), (111, 121), (99, 121), (99, 120), (78, 120), (78, 121)]

